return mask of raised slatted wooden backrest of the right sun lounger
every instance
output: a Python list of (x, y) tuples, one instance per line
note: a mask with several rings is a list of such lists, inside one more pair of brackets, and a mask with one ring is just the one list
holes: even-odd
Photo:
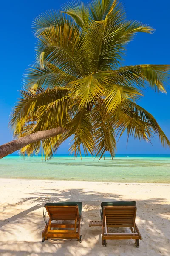
[(136, 206), (103, 206), (103, 224), (133, 226), (136, 218)]

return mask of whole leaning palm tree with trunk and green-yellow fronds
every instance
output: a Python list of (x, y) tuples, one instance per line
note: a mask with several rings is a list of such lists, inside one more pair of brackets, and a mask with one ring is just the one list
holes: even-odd
[[(166, 93), (169, 65), (122, 66), (137, 32), (154, 29), (126, 20), (118, 0), (67, 3), (34, 21), (36, 61), (26, 71), (11, 113), (16, 140), (0, 146), (0, 157), (18, 149), (50, 158), (71, 137), (70, 151), (102, 157), (116, 150), (116, 137), (170, 142), (156, 119), (137, 103), (150, 86)], [(42, 146), (42, 147), (41, 147)]]

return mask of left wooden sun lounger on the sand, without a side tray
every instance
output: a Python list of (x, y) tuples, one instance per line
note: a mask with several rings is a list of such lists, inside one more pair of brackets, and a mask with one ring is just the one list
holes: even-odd
[[(49, 220), (42, 232), (42, 242), (47, 239), (78, 239), (82, 242), (80, 227), (82, 220), (81, 202), (48, 203), (44, 206)], [(44, 219), (46, 217), (44, 213)], [(52, 223), (52, 221), (71, 221), (74, 223)], [(57, 228), (57, 229), (54, 229)]]

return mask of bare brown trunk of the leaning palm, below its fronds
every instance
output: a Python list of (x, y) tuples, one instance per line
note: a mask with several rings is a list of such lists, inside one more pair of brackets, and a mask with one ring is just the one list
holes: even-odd
[(0, 158), (6, 157), (8, 154), (11, 154), (31, 143), (54, 137), (58, 134), (62, 134), (65, 131), (67, 131), (65, 128), (57, 127), (50, 130), (37, 131), (36, 133), (21, 137), (17, 140), (12, 140), (11, 142), (0, 146)]

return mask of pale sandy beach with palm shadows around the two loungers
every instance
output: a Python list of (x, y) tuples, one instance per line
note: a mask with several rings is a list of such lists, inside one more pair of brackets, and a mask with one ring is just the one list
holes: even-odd
[[(140, 247), (132, 240), (108, 241), (102, 246), (98, 220), (102, 201), (136, 201)], [(83, 241), (48, 240), (43, 206), (47, 202), (82, 201)], [(0, 179), (1, 256), (112, 256), (170, 255), (170, 184)]]

